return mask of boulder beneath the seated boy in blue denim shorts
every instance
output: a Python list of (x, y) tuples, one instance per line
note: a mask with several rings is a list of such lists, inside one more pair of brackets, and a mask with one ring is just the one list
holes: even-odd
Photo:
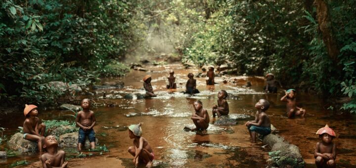
[[(59, 147), (73, 147), (76, 148), (78, 146), (78, 136), (79, 132), (65, 133), (59, 136), (58, 145)], [(98, 145), (98, 139), (95, 138), (95, 145)], [(90, 146), (89, 139), (86, 139), (85, 145), (86, 148)]]

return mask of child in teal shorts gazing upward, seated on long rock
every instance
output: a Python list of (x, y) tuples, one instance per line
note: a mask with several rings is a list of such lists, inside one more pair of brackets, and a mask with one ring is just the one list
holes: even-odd
[(245, 124), (250, 132), (252, 143), (256, 143), (256, 132), (261, 135), (268, 135), (271, 132), (270, 121), (266, 114), (269, 108), (269, 102), (266, 99), (260, 99), (260, 101), (255, 104), (255, 107), (257, 108), (255, 120), (248, 121)]

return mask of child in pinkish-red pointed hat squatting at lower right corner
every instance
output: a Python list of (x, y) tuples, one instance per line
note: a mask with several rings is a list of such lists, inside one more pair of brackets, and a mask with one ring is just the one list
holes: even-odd
[(315, 146), (315, 165), (317, 168), (335, 168), (336, 145), (332, 143), (332, 139), (336, 137), (334, 130), (328, 125), (316, 131), (319, 134), (320, 142)]

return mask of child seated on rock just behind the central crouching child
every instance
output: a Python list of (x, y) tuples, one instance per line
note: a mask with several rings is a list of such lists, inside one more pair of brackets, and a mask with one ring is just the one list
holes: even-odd
[(218, 93), (218, 105), (213, 107), (213, 117), (218, 115), (218, 117), (222, 115), (228, 115), (229, 109), (226, 101), (227, 92), (225, 90), (221, 90)]

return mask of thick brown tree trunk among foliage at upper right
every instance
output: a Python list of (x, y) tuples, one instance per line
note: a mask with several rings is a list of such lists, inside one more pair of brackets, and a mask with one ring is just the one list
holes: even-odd
[(327, 52), (331, 59), (338, 63), (339, 48), (337, 47), (336, 39), (332, 34), (328, 5), (325, 0), (314, 0), (314, 5), (316, 7), (319, 29), (326, 45)]

